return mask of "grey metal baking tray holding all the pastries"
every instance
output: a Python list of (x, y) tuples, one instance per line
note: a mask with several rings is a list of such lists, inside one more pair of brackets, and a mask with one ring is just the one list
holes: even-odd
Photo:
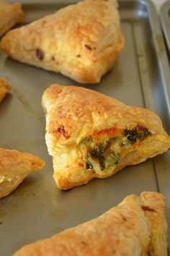
[[(23, 4), (27, 24), (76, 1), (44, 1)], [(156, 9), (148, 0), (120, 2), (125, 48), (98, 90), (132, 106), (155, 111), (170, 133), (169, 66)], [(45, 168), (30, 174), (11, 195), (0, 200), (0, 255), (9, 256), (24, 244), (44, 239), (88, 221), (117, 205), (132, 193), (159, 191), (167, 197), (170, 224), (170, 152), (136, 166), (128, 166), (108, 179), (63, 192), (53, 180), (53, 167), (45, 145), (42, 92), (48, 85), (80, 85), (68, 77), (7, 58), (0, 51), (0, 75), (12, 91), (0, 104), (1, 148), (39, 155)], [(170, 233), (169, 233), (170, 242)]]

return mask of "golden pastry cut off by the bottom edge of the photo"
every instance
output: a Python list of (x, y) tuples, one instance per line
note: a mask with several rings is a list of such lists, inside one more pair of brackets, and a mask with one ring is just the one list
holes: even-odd
[(28, 244), (13, 256), (166, 256), (164, 208), (165, 197), (157, 192), (129, 195), (102, 216)]

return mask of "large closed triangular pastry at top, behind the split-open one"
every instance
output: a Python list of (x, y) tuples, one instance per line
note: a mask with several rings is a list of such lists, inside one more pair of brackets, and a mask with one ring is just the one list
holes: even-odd
[(97, 83), (124, 45), (117, 0), (84, 0), (6, 33), (1, 48), (18, 61)]

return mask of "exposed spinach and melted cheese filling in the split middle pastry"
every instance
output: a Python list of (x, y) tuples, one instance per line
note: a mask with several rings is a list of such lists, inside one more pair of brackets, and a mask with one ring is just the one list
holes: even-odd
[(140, 140), (151, 135), (147, 128), (137, 126), (125, 129), (114, 137), (95, 138), (91, 136), (81, 140), (80, 152), (84, 158), (84, 168), (93, 169), (97, 174), (112, 173), (127, 153), (140, 145)]

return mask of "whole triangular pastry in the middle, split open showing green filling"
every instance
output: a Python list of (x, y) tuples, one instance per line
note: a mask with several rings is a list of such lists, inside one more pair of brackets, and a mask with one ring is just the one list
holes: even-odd
[(94, 90), (50, 85), (42, 107), (59, 189), (112, 176), (170, 148), (170, 137), (156, 114)]

